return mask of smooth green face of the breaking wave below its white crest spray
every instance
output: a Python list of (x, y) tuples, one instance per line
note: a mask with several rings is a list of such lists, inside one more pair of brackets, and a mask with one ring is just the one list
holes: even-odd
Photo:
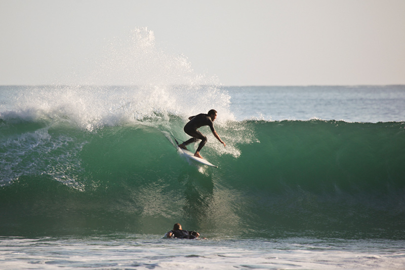
[(0, 235), (163, 235), (182, 222), (211, 236), (403, 238), (403, 123), (219, 123), (228, 148), (210, 136), (202, 152), (218, 169), (176, 151), (183, 125), (0, 119)]

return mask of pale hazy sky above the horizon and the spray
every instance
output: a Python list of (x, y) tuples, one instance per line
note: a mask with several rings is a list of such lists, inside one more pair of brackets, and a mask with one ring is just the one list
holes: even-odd
[(405, 84), (404, 0), (0, 0), (0, 85), (88, 70), (137, 27), (222, 85)]

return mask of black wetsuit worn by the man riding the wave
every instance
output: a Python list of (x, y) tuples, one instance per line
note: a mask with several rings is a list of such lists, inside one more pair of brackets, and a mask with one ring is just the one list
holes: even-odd
[(212, 123), (211, 117), (208, 114), (200, 113), (191, 117), (191, 120), (184, 126), (184, 132), (190, 135), (192, 138), (185, 141), (184, 145), (201, 140), (197, 148), (197, 152), (199, 152), (207, 142), (207, 137), (197, 130), (203, 126), (209, 126), (211, 131), (214, 133), (214, 123)]

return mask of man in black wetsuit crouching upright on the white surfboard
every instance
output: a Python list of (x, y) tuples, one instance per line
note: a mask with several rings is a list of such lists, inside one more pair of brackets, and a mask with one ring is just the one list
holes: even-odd
[(200, 113), (194, 116), (189, 117), (188, 119), (190, 120), (185, 126), (184, 126), (184, 132), (190, 135), (192, 138), (179, 144), (178, 146), (180, 148), (186, 149), (187, 144), (190, 144), (192, 142), (196, 142), (197, 140), (201, 140), (201, 142), (198, 145), (197, 150), (194, 153), (194, 156), (200, 159), (203, 159), (201, 155), (199, 155), (199, 151), (201, 151), (201, 148), (204, 147), (204, 145), (207, 142), (207, 137), (204, 136), (201, 132), (199, 132), (197, 129), (203, 126), (209, 126), (211, 128), (212, 133), (214, 134), (215, 138), (217, 138), (224, 146), (226, 146), (225, 142), (221, 140), (219, 137), (218, 133), (214, 129), (214, 121), (217, 118), (217, 111), (212, 109), (210, 110), (207, 114), (205, 113)]

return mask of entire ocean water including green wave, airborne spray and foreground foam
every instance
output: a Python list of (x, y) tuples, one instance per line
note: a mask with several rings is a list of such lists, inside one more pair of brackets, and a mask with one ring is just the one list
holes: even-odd
[[(224, 87), (147, 29), (109, 44), (0, 86), (0, 269), (403, 269), (405, 86)], [(175, 146), (212, 108), (219, 168)]]

